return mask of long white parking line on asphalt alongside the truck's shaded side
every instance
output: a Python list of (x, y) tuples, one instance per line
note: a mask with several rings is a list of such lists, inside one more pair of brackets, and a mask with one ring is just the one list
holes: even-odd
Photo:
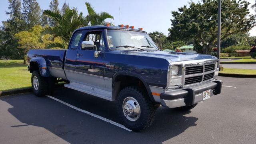
[(52, 98), (53, 100), (56, 100), (57, 102), (60, 102), (60, 103), (62, 103), (62, 104), (65, 104), (66, 106), (69, 106), (70, 108), (74, 108), (75, 110), (78, 110), (78, 111), (80, 111), (80, 112), (89, 114), (90, 116), (94, 116), (95, 118), (99, 118), (99, 119), (101, 119), (101, 120), (104, 120), (105, 122), (109, 122), (110, 124), (114, 124), (115, 126), (118, 126), (118, 127), (120, 127), (120, 128), (123, 128), (123, 129), (125, 129), (125, 130), (128, 130), (129, 132), (132, 131), (132, 130), (126, 128), (126, 127), (125, 127), (124, 125), (122, 125), (122, 124), (118, 124), (117, 122), (114, 122), (114, 121), (109, 120), (109, 119), (107, 119), (107, 118), (104, 118), (104, 117), (102, 117), (102, 116), (98, 116), (97, 114), (93, 114), (93, 113), (88, 112), (88, 111), (86, 111), (86, 110), (82, 110), (82, 109), (80, 109), (80, 108), (78, 108), (78, 107), (76, 107), (76, 106), (73, 106), (73, 105), (71, 105), (71, 104), (68, 104), (68, 103), (66, 103), (66, 102), (63, 102), (62, 100), (59, 100), (59, 99), (54, 98), (54, 97), (52, 97), (52, 96), (49, 96), (49, 95), (46, 95), (46, 96), (47, 96), (48, 98)]

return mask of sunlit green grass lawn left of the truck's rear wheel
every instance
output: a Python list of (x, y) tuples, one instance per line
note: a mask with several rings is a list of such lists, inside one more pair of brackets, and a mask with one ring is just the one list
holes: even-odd
[(31, 74), (23, 60), (0, 60), (0, 90), (31, 86)]

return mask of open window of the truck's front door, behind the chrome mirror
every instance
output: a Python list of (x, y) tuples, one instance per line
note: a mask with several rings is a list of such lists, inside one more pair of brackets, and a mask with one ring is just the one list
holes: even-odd
[[(105, 45), (101, 31), (88, 32), (84, 38), (85, 41), (92, 41), (97, 47), (97, 50), (104, 51)], [(95, 48), (93, 49), (95, 50)]]

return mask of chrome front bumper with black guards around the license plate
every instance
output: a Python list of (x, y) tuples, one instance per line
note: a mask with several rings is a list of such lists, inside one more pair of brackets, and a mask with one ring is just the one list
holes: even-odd
[(190, 106), (202, 101), (202, 92), (210, 90), (210, 96), (220, 94), (222, 81), (215, 80), (213, 82), (203, 84), (200, 86), (172, 90), (160, 94), (162, 106), (168, 108), (176, 108), (181, 106)]

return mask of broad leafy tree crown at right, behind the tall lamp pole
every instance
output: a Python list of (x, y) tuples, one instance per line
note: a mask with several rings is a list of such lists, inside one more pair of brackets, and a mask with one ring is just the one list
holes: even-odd
[[(248, 32), (255, 25), (255, 19), (249, 15), (249, 2), (245, 0), (222, 1), (221, 38), (231, 34)], [(217, 42), (218, 0), (202, 0), (197, 4), (173, 11), (172, 27), (169, 29), (171, 40), (194, 39), (197, 52), (210, 54)]]

